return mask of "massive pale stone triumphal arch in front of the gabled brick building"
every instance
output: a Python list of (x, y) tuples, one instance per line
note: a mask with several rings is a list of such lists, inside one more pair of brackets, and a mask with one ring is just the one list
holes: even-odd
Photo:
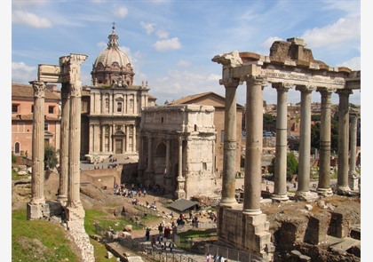
[(137, 182), (176, 199), (213, 194), (214, 111), (200, 105), (144, 108)]

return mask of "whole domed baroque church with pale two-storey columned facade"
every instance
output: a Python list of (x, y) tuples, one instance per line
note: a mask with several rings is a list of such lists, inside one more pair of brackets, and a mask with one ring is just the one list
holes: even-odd
[(135, 73), (119, 48), (115, 27), (108, 39), (93, 64), (92, 85), (83, 90), (82, 154), (136, 158), (141, 109), (155, 106), (155, 98), (147, 83), (133, 85)]

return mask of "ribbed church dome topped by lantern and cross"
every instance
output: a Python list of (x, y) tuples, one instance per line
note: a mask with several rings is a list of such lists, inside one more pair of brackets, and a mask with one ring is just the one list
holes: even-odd
[(99, 53), (93, 63), (93, 85), (131, 86), (133, 83), (133, 69), (127, 54), (119, 48), (118, 36), (113, 25), (111, 35), (108, 36), (107, 49)]

